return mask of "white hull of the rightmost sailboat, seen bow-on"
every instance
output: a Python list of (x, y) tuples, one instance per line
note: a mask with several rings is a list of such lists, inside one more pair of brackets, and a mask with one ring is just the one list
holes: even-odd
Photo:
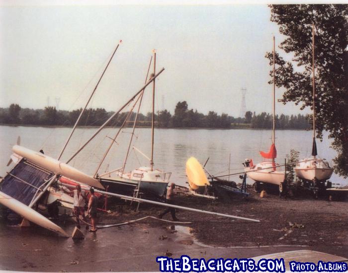
[(294, 171), (298, 178), (308, 181), (324, 181), (330, 179), (334, 169), (330, 167), (329, 163), (321, 158), (306, 158), (297, 163)]

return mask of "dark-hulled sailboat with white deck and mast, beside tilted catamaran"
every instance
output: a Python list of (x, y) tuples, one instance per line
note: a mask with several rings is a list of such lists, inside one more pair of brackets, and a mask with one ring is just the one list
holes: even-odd
[[(150, 61), (149, 69), (150, 69), (150, 66), (151, 66), (151, 61)], [(155, 75), (156, 74), (156, 52), (155, 51), (154, 51), (154, 66), (153, 67), (154, 67), (153, 75)], [(145, 82), (146, 81), (147, 81), (147, 77), (145, 79)], [(100, 182), (104, 187), (108, 187), (108, 191), (110, 192), (127, 192), (127, 193), (133, 192), (134, 193), (134, 191), (137, 190), (138, 192), (140, 191), (142, 193), (162, 197), (167, 190), (167, 186), (170, 181), (170, 177), (172, 173), (154, 168), (155, 80), (153, 80), (153, 92), (152, 92), (151, 158), (147, 157), (139, 149), (133, 146), (134, 150), (141, 153), (144, 157), (146, 157), (150, 161), (150, 166), (141, 166), (139, 168), (132, 170), (131, 172), (125, 172), (125, 166), (126, 166), (127, 158), (129, 155), (132, 139), (134, 136), (135, 125), (137, 122), (137, 118), (138, 118), (138, 114), (139, 114), (139, 110), (141, 106), (143, 92), (140, 95), (138, 111), (134, 120), (133, 131), (131, 133), (131, 138), (129, 141), (128, 150), (126, 153), (123, 167), (116, 169), (113, 172), (102, 174), (98, 176), (98, 178), (100, 179)], [(100, 165), (101, 163), (99, 164), (99, 167)]]

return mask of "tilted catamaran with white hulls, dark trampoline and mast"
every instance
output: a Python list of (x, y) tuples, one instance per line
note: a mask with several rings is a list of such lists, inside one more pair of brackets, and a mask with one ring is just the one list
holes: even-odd
[[(92, 95), (118, 47), (119, 44), (104, 68)], [(58, 180), (64, 176), (88, 186), (104, 189), (97, 179), (68, 165), (71, 159), (66, 163), (59, 161), (84, 110), (81, 112), (80, 117), (77, 120), (71, 135), (67, 139), (58, 159), (47, 156), (42, 152), (33, 151), (20, 146), (20, 138), (18, 137), (17, 145), (14, 145), (12, 148), (13, 154), (11, 155), (7, 166), (11, 164), (11, 162), (14, 162), (15, 165), (0, 181), (0, 203), (2, 205), (7, 206), (17, 214), (24, 217), (24, 219), (63, 234), (64, 236), (67, 234), (61, 228), (46, 219), (44, 216), (41, 217), (41, 214), (36, 211), (47, 210), (49, 214), (59, 213), (60, 208), (61, 210), (64, 210), (64, 213), (70, 213), (72, 211), (74, 200), (61, 189), (61, 186), (57, 183)]]

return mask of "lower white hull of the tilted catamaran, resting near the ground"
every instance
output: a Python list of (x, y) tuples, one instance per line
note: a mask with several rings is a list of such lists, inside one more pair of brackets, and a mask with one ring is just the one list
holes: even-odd
[(69, 237), (61, 227), (48, 220), (45, 216), (2, 192), (0, 192), (0, 203), (30, 222)]

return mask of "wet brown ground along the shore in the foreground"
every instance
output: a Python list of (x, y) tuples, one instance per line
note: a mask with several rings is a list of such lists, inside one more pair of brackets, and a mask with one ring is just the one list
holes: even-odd
[[(188, 201), (187, 201), (188, 200)], [(38, 227), (19, 228), (0, 221), (0, 270), (31, 272), (130, 272), (159, 271), (157, 256), (178, 258), (250, 258), (297, 249), (312, 249), (347, 256), (347, 202), (284, 200), (274, 196), (231, 204), (194, 199), (180, 205), (260, 218), (261, 223), (233, 221), (205, 214), (180, 211), (182, 221), (173, 225), (146, 219), (131, 225), (88, 232), (74, 241)], [(186, 204), (189, 205), (189, 204)], [(144, 215), (156, 215), (163, 208), (140, 206), (140, 212), (116, 205), (113, 213), (99, 221), (123, 222)], [(321, 215), (321, 216), (319, 216)], [(170, 216), (165, 216), (170, 219)], [(290, 226), (289, 222), (296, 224)], [(72, 233), (74, 224), (60, 224)], [(287, 235), (285, 235), (287, 234)], [(282, 238), (283, 239), (280, 239)]]

